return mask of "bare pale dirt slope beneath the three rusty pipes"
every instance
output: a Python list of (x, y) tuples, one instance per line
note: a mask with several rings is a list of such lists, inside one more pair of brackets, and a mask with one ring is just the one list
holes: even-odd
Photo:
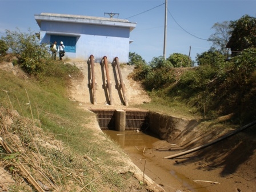
[[(75, 101), (90, 105), (93, 104), (93, 93), (89, 85), (91, 83), (90, 66), (86, 62), (70, 62), (77, 66), (84, 76), (82, 79), (73, 79), (73, 86), (71, 86), (70, 97)], [(108, 64), (109, 77), (111, 81), (111, 90), (113, 97), (113, 106), (126, 107), (124, 101), (123, 91), (120, 87), (119, 75), (117, 67)], [(106, 89), (106, 72), (105, 66), (99, 63), (94, 64), (95, 69), (95, 82), (97, 83), (97, 90), (95, 91), (95, 98), (97, 105), (93, 107), (102, 107), (110, 104), (109, 94)], [(125, 83), (125, 93), (128, 104), (141, 104), (149, 102), (150, 98), (139, 84), (139, 82), (131, 81), (128, 75), (133, 71), (134, 66), (121, 67), (123, 82)], [(111, 107), (111, 106), (110, 106)]]

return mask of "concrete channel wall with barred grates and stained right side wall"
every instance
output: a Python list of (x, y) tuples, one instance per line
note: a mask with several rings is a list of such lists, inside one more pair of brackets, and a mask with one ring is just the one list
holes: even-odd
[[(187, 133), (196, 135), (198, 121), (163, 115), (152, 111), (91, 109), (102, 130), (150, 130), (162, 140), (187, 142)], [(194, 133), (194, 134), (191, 134)], [(191, 139), (191, 138), (190, 138)]]

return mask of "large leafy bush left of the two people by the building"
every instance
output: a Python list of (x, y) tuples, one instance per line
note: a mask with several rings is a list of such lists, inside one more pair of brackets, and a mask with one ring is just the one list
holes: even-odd
[(6, 30), (6, 36), (2, 39), (18, 58), (18, 64), (28, 74), (42, 70), (43, 61), (50, 59), (48, 47), (41, 45), (37, 35), (31, 30), (29, 33)]

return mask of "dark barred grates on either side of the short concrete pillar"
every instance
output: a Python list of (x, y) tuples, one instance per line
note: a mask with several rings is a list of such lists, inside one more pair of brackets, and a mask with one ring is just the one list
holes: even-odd
[[(117, 127), (118, 111), (114, 109), (90, 109), (97, 115), (99, 127), (102, 130), (119, 130)], [(149, 128), (149, 112), (138, 110), (125, 111), (125, 130), (146, 130)]]

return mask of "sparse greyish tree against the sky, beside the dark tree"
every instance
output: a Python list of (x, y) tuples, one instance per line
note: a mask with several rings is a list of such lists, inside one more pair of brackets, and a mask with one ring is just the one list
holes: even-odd
[(208, 41), (213, 42), (212, 47), (214, 49), (217, 49), (226, 56), (226, 58), (229, 57), (229, 51), (226, 48), (227, 42), (229, 42), (229, 38), (231, 36), (231, 28), (230, 28), (230, 22), (224, 21), (222, 23), (214, 23), (213, 27), (211, 29), (215, 30), (214, 34), (211, 34)]

